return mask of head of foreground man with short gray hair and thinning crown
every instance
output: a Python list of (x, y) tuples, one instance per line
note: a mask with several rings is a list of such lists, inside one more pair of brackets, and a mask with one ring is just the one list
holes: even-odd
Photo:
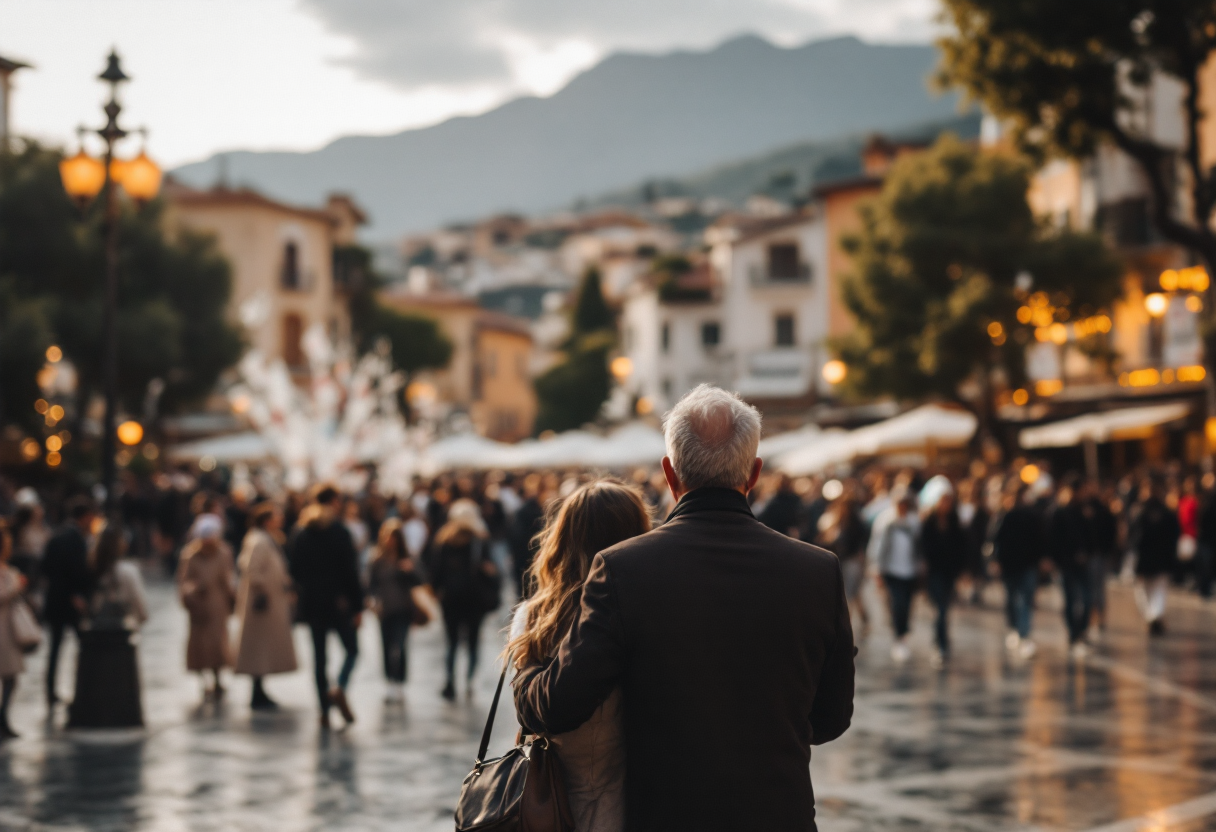
[(760, 412), (734, 393), (700, 384), (663, 418), (663, 435), (689, 491), (743, 488), (760, 444)]

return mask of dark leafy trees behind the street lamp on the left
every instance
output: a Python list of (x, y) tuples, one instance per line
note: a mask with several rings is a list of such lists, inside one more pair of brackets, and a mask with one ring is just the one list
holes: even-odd
[[(101, 390), (101, 206), (79, 214), (60, 158), (33, 142), (0, 152), (0, 401), (2, 420), (26, 428), (41, 423), (35, 373), (51, 344), (77, 367), (80, 405)], [(159, 378), (161, 405), (173, 411), (210, 392), (241, 355), (225, 315), (229, 266), (204, 237), (167, 238), (158, 203), (125, 204), (119, 223), (119, 399), (139, 412)]]

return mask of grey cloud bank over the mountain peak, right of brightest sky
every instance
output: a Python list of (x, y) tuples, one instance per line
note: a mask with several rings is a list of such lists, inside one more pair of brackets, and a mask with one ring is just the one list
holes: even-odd
[(927, 41), (935, 0), (300, 0), (354, 41), (340, 58), (399, 89), (547, 94), (610, 51), (705, 49), (743, 32), (794, 45), (851, 33)]

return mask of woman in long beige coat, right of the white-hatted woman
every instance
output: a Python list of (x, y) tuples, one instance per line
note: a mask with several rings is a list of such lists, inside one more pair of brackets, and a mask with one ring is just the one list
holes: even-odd
[(292, 579), (280, 541), (283, 513), (263, 502), (249, 513), (249, 533), (241, 545), (241, 583), (236, 592), (236, 614), (241, 620), (237, 639), (236, 673), (253, 676), (254, 710), (275, 710), (266, 696), (263, 676), (291, 673), (297, 668), (292, 645)]

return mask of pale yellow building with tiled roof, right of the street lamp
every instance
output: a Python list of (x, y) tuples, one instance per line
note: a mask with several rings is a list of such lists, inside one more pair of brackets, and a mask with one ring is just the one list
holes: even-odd
[(333, 247), (354, 241), (365, 221), (349, 197), (326, 209), (299, 208), (247, 189), (206, 191), (167, 182), (165, 226), (215, 237), (232, 268), (230, 314), (249, 347), (306, 370), (300, 339), (320, 324), (333, 339), (350, 333), (350, 311), (334, 282)]

